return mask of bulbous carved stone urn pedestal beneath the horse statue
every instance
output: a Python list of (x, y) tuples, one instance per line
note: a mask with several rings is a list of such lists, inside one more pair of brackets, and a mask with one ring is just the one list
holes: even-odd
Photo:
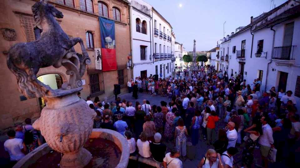
[(62, 168), (81, 168), (88, 164), (92, 155), (83, 145), (93, 129), (94, 110), (74, 93), (62, 97), (46, 97), (47, 105), (33, 128), (41, 130), (48, 145), (63, 153)]

